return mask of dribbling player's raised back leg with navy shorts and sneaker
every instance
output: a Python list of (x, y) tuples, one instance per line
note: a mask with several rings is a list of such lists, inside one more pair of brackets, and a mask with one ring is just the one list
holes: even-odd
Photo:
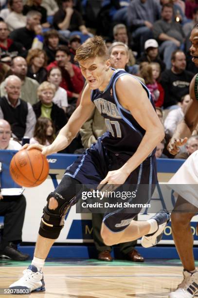
[[(129, 189), (137, 190), (131, 199), (134, 205), (146, 204), (152, 195), (157, 182), (155, 157), (150, 157), (135, 169), (127, 179)], [(104, 217), (101, 235), (108, 245), (136, 240), (140, 237), (144, 247), (155, 245), (162, 238), (162, 232), (170, 220), (167, 211), (160, 211), (148, 221), (133, 221), (142, 208), (121, 208), (116, 212), (108, 210)]]

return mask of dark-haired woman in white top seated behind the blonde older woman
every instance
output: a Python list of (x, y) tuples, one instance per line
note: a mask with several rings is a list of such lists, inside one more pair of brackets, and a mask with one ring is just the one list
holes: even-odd
[(62, 81), (62, 74), (59, 67), (53, 67), (48, 72), (48, 82), (54, 84), (56, 88), (56, 93), (53, 98), (53, 102), (59, 107), (62, 108), (65, 112), (68, 107), (67, 91), (59, 87)]

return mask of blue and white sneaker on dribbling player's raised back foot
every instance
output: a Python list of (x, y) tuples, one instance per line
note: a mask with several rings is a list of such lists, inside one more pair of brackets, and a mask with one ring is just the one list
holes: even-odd
[(151, 219), (156, 220), (158, 223), (158, 229), (152, 234), (143, 236), (141, 244), (145, 248), (154, 246), (161, 241), (163, 230), (165, 229), (166, 224), (170, 221), (170, 214), (168, 211), (161, 210), (151, 217)]

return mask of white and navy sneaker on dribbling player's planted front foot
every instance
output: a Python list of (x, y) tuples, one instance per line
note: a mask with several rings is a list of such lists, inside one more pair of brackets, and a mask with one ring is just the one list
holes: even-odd
[(20, 292), (20, 294), (27, 294), (28, 289), (29, 293), (44, 292), (45, 282), (43, 279), (43, 273), (38, 271), (34, 265), (30, 265), (26, 270), (23, 271), (23, 277), (12, 283), (9, 286), (9, 289), (24, 290), (24, 293)]

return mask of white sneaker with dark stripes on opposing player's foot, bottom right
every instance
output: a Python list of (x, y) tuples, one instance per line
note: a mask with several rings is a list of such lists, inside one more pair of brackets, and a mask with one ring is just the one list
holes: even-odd
[(169, 298), (193, 298), (198, 297), (198, 271), (190, 273), (183, 270), (183, 280), (174, 292), (169, 294)]

